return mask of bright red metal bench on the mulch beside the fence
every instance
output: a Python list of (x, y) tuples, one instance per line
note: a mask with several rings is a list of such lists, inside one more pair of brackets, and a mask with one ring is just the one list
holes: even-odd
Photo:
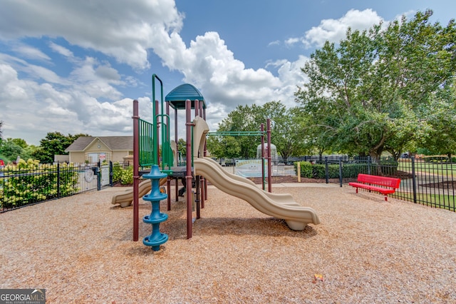
[(399, 188), (400, 178), (387, 178), (384, 176), (371, 176), (369, 174), (358, 174), (358, 183), (352, 182), (348, 185), (356, 188), (363, 188), (371, 191), (377, 191), (385, 195), (385, 201), (388, 201), (388, 194), (395, 193), (396, 189)]

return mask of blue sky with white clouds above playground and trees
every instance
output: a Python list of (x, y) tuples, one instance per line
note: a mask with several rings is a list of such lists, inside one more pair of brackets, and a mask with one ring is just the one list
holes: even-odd
[(197, 87), (217, 131), (239, 105), (296, 106), (301, 67), (348, 27), (426, 9), (443, 26), (456, 17), (453, 0), (0, 0), (2, 138), (38, 146), (50, 132), (131, 136), (133, 99), (152, 120), (152, 74), (165, 96)]

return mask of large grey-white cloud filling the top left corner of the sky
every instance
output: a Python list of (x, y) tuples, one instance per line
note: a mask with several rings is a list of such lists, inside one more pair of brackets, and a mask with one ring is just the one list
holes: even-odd
[(172, 0), (3, 1), (0, 10), (0, 39), (61, 36), (136, 69), (149, 66), (147, 49), (181, 28)]

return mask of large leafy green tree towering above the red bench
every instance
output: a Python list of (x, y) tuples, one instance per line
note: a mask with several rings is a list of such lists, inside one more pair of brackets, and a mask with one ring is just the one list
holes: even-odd
[(435, 118), (455, 106), (435, 98), (450, 95), (456, 26), (454, 20), (431, 24), (430, 16), (418, 12), (410, 21), (349, 29), (338, 46), (326, 42), (311, 54), (301, 69), (309, 82), (295, 93), (307, 131), (333, 150), (375, 161), (383, 151), (397, 154), (427, 134), (439, 136)]

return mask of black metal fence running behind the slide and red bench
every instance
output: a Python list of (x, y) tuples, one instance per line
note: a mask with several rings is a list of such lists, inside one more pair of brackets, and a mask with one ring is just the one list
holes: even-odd
[[(236, 173), (236, 159), (216, 160), (226, 171)], [(359, 173), (400, 178), (400, 188), (389, 195), (404, 201), (456, 211), (456, 163), (445, 156), (425, 158), (382, 158), (373, 163), (370, 157), (301, 156), (272, 159), (272, 176), (296, 176), (301, 163), (301, 177), (325, 179), (326, 183), (348, 186)], [(362, 191), (362, 189), (360, 189)]]

